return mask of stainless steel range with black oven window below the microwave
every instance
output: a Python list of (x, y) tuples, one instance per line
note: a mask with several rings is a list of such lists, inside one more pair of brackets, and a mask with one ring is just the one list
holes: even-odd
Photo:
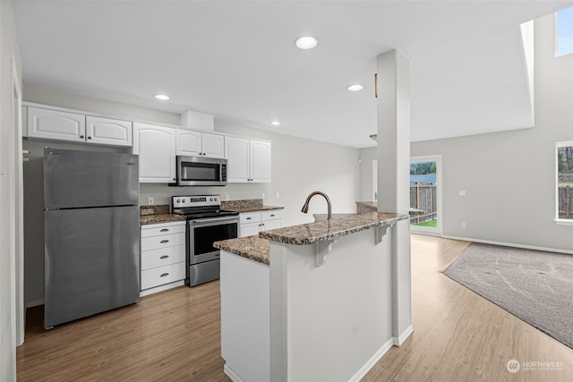
[(239, 213), (221, 211), (218, 195), (174, 196), (173, 213), (187, 218), (187, 269), (185, 284), (194, 286), (217, 280), (220, 251), (213, 242), (239, 234)]

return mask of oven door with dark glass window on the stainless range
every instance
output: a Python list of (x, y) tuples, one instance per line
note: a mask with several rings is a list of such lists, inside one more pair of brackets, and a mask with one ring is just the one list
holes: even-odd
[(189, 265), (219, 259), (213, 242), (235, 239), (239, 232), (239, 216), (189, 220)]

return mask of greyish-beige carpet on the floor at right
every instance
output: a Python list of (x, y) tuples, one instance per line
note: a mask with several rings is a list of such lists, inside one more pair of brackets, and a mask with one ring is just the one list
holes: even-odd
[(473, 243), (443, 273), (573, 349), (573, 255)]

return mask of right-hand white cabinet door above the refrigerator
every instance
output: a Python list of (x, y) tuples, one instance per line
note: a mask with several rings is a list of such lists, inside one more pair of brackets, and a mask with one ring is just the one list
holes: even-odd
[(88, 143), (131, 147), (132, 123), (87, 115), (86, 139)]

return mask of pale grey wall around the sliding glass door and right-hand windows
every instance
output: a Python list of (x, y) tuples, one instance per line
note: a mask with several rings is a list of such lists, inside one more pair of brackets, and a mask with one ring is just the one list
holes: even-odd
[(573, 55), (554, 57), (553, 30), (552, 15), (535, 21), (535, 128), (411, 144), (414, 157), (442, 156), (444, 236), (573, 251), (573, 227), (552, 221), (555, 142), (573, 140)]

